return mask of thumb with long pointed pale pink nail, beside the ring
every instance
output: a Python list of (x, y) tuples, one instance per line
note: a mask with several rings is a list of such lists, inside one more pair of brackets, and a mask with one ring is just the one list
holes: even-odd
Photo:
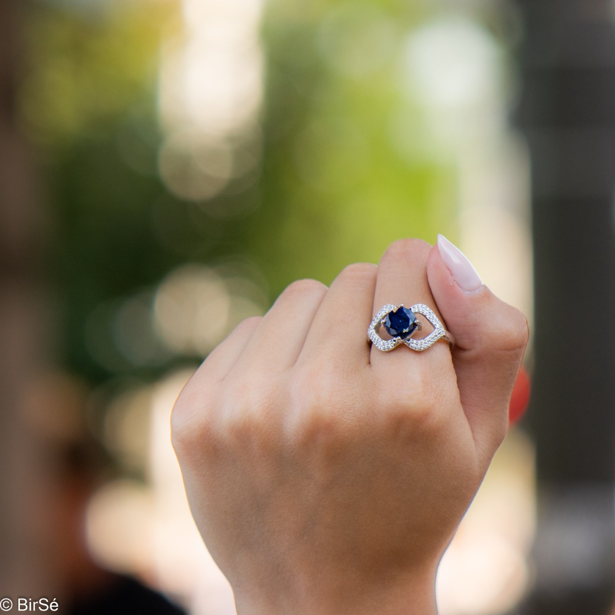
[(429, 253), (427, 279), (453, 334), (459, 397), (488, 463), (508, 429), (510, 394), (528, 341), (527, 320), (493, 295), (466, 256), (442, 235)]

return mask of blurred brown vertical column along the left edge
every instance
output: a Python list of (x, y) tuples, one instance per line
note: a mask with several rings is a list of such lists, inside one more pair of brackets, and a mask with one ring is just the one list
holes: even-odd
[(15, 111), (25, 6), (20, 0), (0, 2), (0, 598), (14, 602), (44, 586), (30, 523), (33, 509), (44, 506), (37, 491), (41, 472), (21, 412), (45, 346), (42, 212)]

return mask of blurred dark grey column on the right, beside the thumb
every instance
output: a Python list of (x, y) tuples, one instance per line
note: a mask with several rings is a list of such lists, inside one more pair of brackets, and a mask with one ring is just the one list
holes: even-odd
[(533, 175), (536, 587), (603, 615), (615, 580), (615, 28), (610, 0), (517, 0)]

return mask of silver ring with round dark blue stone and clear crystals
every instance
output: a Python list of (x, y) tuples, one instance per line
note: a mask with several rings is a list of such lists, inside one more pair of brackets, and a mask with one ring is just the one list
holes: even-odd
[[(434, 327), (434, 330), (424, 339), (411, 338), (416, 331), (421, 330), (421, 323), (416, 319), (416, 314), (423, 314)], [(386, 328), (391, 339), (383, 339), (378, 335), (381, 327)], [(439, 339), (453, 346), (453, 336), (446, 331), (432, 309), (423, 303), (417, 303), (411, 308), (404, 308), (403, 303), (397, 306), (391, 303), (383, 306), (371, 321), (367, 336), (371, 339), (371, 343), (383, 352), (392, 351), (400, 344), (405, 344), (411, 350), (422, 352), (433, 346)]]

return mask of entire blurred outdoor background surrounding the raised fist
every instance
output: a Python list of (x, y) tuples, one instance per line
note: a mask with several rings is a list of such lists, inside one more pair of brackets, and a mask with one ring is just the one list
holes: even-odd
[(88, 600), (130, 576), (234, 613), (170, 446), (178, 392), (293, 280), (442, 232), (535, 335), (531, 411), (445, 555), (440, 613), (609, 613), (614, 18), (3, 0), (0, 593), (119, 613)]

